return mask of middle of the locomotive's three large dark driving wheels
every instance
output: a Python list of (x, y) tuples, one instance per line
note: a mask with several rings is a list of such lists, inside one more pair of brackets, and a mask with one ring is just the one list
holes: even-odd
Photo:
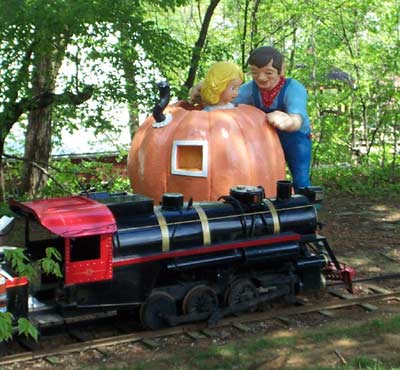
[(218, 307), (218, 296), (207, 285), (196, 285), (190, 289), (182, 302), (184, 314), (213, 313)]

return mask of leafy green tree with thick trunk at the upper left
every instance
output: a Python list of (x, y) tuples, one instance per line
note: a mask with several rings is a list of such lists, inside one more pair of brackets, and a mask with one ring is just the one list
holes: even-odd
[[(179, 1), (155, 0), (150, 4), (158, 9), (167, 9), (176, 6)], [(64, 99), (63, 103), (68, 103), (71, 107), (55, 113), (55, 101), (49, 99), (60, 84), (61, 64), (66, 63), (65, 59), (73, 60), (76, 72), (64, 76), (63, 94), (70, 96), (71, 91), (81, 94), (82, 91), (88, 90), (85, 78), (90, 71), (83, 72), (80, 69), (82, 61), (79, 59), (82, 56), (80, 50), (85, 50), (85, 60), (92, 62), (92, 68), (104, 63), (103, 58), (108, 52), (108, 61), (112, 62), (113, 69), (112, 73), (107, 72), (107, 76), (111, 78), (103, 86), (98, 86), (92, 97), (100, 101), (98, 105), (100, 108), (97, 108), (97, 114), (94, 115), (87, 116), (84, 113), (83, 116), (88, 119), (82, 120), (80, 126), (96, 127), (99, 131), (111, 129), (112, 122), (107, 121), (103, 115), (104, 101), (107, 99), (121, 101), (123, 97), (126, 99), (127, 92), (129, 94), (132, 92), (129, 89), (123, 92), (124, 84), (116, 83), (120, 80), (119, 66), (124, 55), (119, 53), (120, 46), (123, 43), (130, 43), (130, 50), (135, 50), (138, 46), (150, 45), (146, 43), (149, 39), (157, 38), (160, 42), (169, 37), (166, 32), (160, 37), (160, 34), (155, 32), (154, 23), (146, 21), (146, 14), (145, 6), (137, 1), (2, 1), (0, 32), (3, 52), (1, 68), (4, 75), (1, 75), (3, 88), (0, 94), (4, 104), (1, 112), (0, 154), (3, 153), (4, 140), (11, 127), (23, 113), (27, 113), (25, 158), (29, 161), (24, 165), (21, 185), (23, 191), (34, 196), (43, 184), (43, 173), (38, 172), (37, 167), (32, 167), (31, 161), (40, 163), (44, 169), (47, 168), (52, 134), (60, 131), (60, 126), (53, 127), (54, 116), (62, 116), (62, 120), (58, 122), (62, 124), (71, 118), (77, 118), (79, 114), (74, 107), (78, 101), (67, 102)], [(118, 35), (126, 36), (128, 32), (132, 35), (131, 38), (125, 38), (122, 44), (116, 43), (115, 48), (108, 47), (112, 44), (110, 39)], [(76, 50), (76, 53), (70, 53), (68, 49)], [(146, 54), (145, 48), (143, 50)], [(126, 55), (125, 66), (129, 65)], [(134, 64), (137, 60), (132, 57), (135, 57), (135, 53), (129, 54), (130, 63)], [(102, 68), (98, 70), (101, 71)], [(127, 68), (125, 71), (129, 72)], [(46, 97), (46, 103), (41, 99), (40, 104), (34, 104), (38, 97)], [(135, 98), (136, 96), (130, 96), (130, 99), (135, 100)], [(87, 113), (88, 107), (85, 109)], [(72, 124), (72, 127), (76, 126)]]

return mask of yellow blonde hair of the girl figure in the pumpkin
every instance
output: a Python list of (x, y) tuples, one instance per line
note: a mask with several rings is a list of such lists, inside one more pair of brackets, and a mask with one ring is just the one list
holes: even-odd
[(201, 87), (201, 98), (207, 105), (215, 105), (229, 82), (240, 79), (244, 81), (241, 68), (232, 62), (217, 62), (208, 70)]

